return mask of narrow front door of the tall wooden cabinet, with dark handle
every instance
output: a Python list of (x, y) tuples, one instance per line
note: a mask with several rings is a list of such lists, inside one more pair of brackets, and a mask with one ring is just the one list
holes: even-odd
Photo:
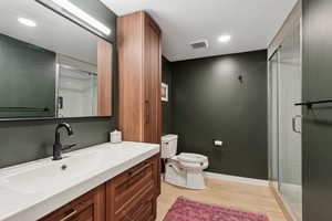
[(162, 117), (160, 31), (156, 23), (147, 14), (145, 14), (144, 34), (144, 141), (159, 144)]

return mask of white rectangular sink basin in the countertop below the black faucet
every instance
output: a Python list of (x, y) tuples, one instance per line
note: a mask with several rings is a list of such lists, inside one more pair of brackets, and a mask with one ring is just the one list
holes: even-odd
[(35, 193), (61, 187), (71, 180), (87, 176), (102, 161), (100, 152), (65, 157), (60, 161), (48, 159), (31, 165), (0, 180), (0, 187), (22, 193)]

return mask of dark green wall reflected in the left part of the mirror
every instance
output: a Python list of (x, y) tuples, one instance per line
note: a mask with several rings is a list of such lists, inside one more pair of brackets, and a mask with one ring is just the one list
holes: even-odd
[[(37, 82), (42, 84), (35, 86)], [(0, 34), (0, 107), (50, 109), (22, 112), (1, 108), (0, 118), (54, 117), (55, 53)]]

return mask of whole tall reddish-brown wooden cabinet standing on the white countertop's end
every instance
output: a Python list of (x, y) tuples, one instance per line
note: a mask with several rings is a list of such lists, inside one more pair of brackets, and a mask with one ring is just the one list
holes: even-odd
[(117, 19), (118, 126), (125, 140), (160, 143), (162, 32), (143, 11)]

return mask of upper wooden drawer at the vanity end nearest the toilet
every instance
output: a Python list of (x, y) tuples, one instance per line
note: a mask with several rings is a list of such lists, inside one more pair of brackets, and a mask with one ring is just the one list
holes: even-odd
[(153, 171), (153, 162), (146, 160), (114, 179), (115, 211), (144, 190), (155, 188)]

